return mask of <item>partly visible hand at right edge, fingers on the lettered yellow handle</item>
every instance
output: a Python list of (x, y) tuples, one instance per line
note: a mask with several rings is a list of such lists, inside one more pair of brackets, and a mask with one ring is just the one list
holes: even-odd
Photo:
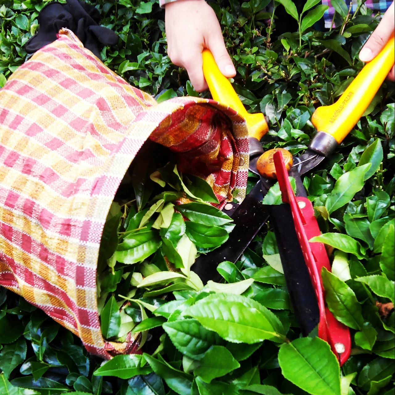
[[(395, 30), (394, 9), (394, 2), (392, 2), (382, 20), (359, 52), (359, 59), (363, 62), (369, 62), (369, 60), (378, 55), (387, 41), (393, 36)], [(388, 78), (391, 81), (395, 80), (394, 66), (392, 66)]]

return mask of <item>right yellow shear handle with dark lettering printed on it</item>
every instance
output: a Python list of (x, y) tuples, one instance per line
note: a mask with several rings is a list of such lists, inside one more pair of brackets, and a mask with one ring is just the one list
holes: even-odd
[(336, 103), (318, 107), (311, 122), (341, 143), (365, 112), (394, 64), (394, 38), (355, 77)]

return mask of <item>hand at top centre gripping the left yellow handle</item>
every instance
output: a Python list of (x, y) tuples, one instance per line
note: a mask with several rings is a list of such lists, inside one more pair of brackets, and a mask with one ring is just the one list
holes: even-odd
[(225, 77), (236, 75), (218, 19), (205, 0), (168, 3), (165, 10), (167, 53), (174, 64), (188, 71), (195, 90), (201, 92), (208, 88), (202, 70), (201, 53), (205, 48), (213, 53)]

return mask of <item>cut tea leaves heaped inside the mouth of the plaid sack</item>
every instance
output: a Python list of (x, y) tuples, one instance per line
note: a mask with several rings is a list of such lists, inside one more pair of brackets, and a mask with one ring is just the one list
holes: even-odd
[(195, 175), (180, 174), (175, 163), (160, 166), (166, 156), (164, 147), (145, 143), (107, 216), (97, 290), (108, 340), (125, 341), (133, 329), (141, 333), (143, 346), (147, 329), (164, 322), (148, 319), (146, 309), (152, 312), (153, 306), (166, 303), (169, 292), (201, 290), (191, 266), (198, 254), (224, 243), (233, 229), (232, 219), (210, 205), (219, 203), (211, 186)]

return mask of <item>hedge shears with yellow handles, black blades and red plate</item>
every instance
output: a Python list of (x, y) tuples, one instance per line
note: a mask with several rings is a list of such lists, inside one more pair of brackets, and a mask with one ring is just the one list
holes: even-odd
[[(270, 217), (293, 310), (303, 335), (318, 326), (318, 336), (326, 340), (342, 365), (350, 355), (348, 327), (338, 322), (325, 304), (321, 269), (331, 270), (322, 243), (308, 240), (320, 235), (312, 203), (307, 198), (301, 176), (318, 166), (352, 130), (394, 64), (394, 38), (367, 63), (340, 98), (332, 105), (318, 107), (311, 118), (317, 133), (306, 152), (292, 156), (285, 149), (263, 152), (260, 139), (268, 131), (263, 114), (250, 114), (239, 100), (229, 80), (222, 75), (210, 51), (203, 51), (203, 73), (213, 99), (242, 115), (250, 138), (249, 169), (260, 175), (243, 202), (228, 203), (225, 209), (235, 228), (228, 241), (210, 254), (201, 255), (193, 270), (203, 282), (219, 279), (216, 267), (222, 261), (239, 260), (249, 243)], [(293, 192), (288, 176), (296, 182)], [(278, 180), (281, 205), (263, 205), (263, 196)], [(228, 207), (227, 207), (228, 206)]]

